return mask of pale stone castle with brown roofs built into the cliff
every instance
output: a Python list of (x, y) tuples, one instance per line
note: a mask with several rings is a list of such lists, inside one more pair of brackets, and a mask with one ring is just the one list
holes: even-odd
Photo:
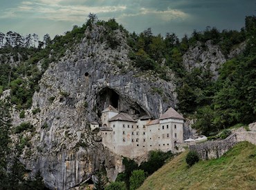
[[(138, 119), (119, 113), (109, 105), (102, 111), (100, 134), (102, 143), (111, 151), (127, 158), (137, 158), (148, 151), (174, 151), (183, 142), (184, 118), (172, 107), (158, 119), (149, 116)], [(92, 128), (98, 127), (92, 123)]]

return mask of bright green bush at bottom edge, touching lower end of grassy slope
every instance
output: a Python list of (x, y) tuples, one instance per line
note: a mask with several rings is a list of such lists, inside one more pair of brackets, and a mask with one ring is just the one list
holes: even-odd
[(138, 187), (140, 187), (141, 184), (143, 184), (145, 179), (146, 179), (145, 172), (142, 169), (132, 171), (131, 177), (129, 180), (130, 189), (131, 190), (137, 189)]

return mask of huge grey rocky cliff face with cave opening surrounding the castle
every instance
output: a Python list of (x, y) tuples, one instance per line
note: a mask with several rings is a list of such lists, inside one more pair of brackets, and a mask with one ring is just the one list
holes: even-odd
[(91, 121), (100, 121), (104, 107), (111, 104), (120, 112), (158, 118), (176, 105), (174, 84), (134, 69), (125, 34), (114, 31), (112, 37), (120, 43), (111, 49), (106, 32), (95, 25), (86, 30), (79, 45), (48, 67), (26, 117), (12, 113), (14, 126), (34, 125), (35, 131), (21, 134), (30, 145), (22, 150), (21, 161), (33, 173), (42, 173), (51, 189), (74, 187), (100, 168), (112, 180), (122, 171), (122, 158), (105, 149), (89, 129)]

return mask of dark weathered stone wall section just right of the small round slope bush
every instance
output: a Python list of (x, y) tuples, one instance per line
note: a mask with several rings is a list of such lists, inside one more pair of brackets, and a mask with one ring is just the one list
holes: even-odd
[(197, 151), (202, 160), (219, 158), (236, 144), (236, 140), (214, 140), (198, 145), (190, 145), (190, 150)]

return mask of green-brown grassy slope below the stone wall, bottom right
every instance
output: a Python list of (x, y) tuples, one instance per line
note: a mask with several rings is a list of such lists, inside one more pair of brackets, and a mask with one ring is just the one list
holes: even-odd
[(188, 167), (180, 154), (149, 176), (140, 189), (256, 189), (256, 146), (241, 142), (224, 156)]

